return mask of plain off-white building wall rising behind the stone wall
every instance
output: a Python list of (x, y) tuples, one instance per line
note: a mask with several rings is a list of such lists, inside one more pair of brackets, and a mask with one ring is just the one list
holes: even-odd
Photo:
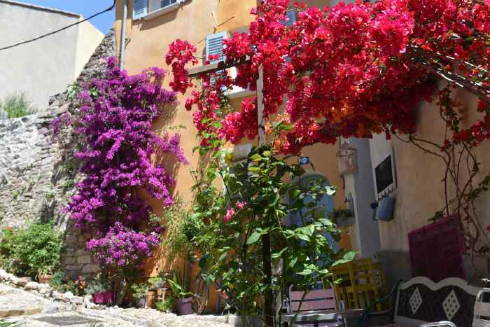
[[(33, 39), (79, 19), (79, 15), (0, 1), (0, 48)], [(77, 58), (78, 27), (71, 27), (38, 41), (0, 51), (0, 99), (15, 92), (26, 92), (38, 109), (45, 109), (51, 95), (64, 91), (66, 85), (73, 82), (76, 72), (83, 66), (81, 62), (88, 60), (92, 48), (101, 40), (84, 39), (83, 48), (88, 50), (87, 54)]]

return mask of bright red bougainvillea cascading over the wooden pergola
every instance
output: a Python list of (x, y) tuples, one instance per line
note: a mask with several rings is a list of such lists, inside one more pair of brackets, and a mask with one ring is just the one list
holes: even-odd
[[(262, 1), (252, 10), (249, 32), (225, 40), (227, 64), (241, 62), (235, 78), (226, 70), (200, 76), (202, 89), (186, 108), (197, 106), (194, 123), (203, 145), (214, 146), (213, 137), (237, 143), (256, 136), (256, 97), (235, 112), (225, 110), (223, 94), (233, 86), (255, 90), (260, 65), (265, 120), (291, 127), (276, 139), (284, 153), (339, 136), (414, 132), (416, 106), (435, 90), (430, 75), (480, 97), (482, 119), (453, 131), (451, 141), (490, 138), (489, 0), (359, 1), (332, 8), (288, 3)], [(290, 26), (287, 11), (297, 12)], [(195, 52), (186, 41), (171, 44), (166, 59), (174, 91), (192, 86), (186, 64), (197, 64)]]

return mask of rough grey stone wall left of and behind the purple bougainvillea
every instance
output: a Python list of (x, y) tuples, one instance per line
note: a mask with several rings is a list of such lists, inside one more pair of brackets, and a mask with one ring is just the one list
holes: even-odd
[[(104, 70), (106, 57), (116, 55), (113, 31), (102, 43), (80, 73), (77, 83), (97, 77)], [(53, 219), (64, 232), (62, 270), (72, 279), (79, 274), (90, 278), (99, 266), (85, 251), (90, 235), (74, 228), (63, 212), (76, 174), (73, 158), (74, 144), (69, 134), (62, 143), (52, 142), (50, 121), (73, 111), (67, 92), (50, 98), (46, 111), (22, 118), (0, 120), (0, 229), (29, 225), (36, 219)]]

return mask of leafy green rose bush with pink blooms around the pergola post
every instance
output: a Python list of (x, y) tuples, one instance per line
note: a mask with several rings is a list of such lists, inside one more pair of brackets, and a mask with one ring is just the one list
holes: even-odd
[[(309, 289), (332, 265), (353, 258), (351, 251), (331, 249), (325, 238), (328, 232), (340, 239), (341, 231), (321, 205), (335, 187), (322, 179), (290, 182), (300, 181), (304, 170), (267, 146), (253, 148), (247, 160), (235, 164), (226, 151), (208, 154), (209, 166), (193, 172), (194, 217), (204, 222), (195, 237), (199, 264), (207, 283), (224, 291), (241, 316), (260, 314), (260, 299), (268, 291), (290, 284)], [(223, 184), (224, 191), (216, 187)], [(284, 223), (293, 215), (302, 225)], [(272, 284), (263, 272), (264, 235), (270, 238), (273, 266), (282, 268)]]

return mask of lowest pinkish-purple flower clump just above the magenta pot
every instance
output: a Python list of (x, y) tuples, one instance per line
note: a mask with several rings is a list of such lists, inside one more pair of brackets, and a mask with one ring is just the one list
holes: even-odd
[(139, 267), (143, 258), (151, 255), (151, 249), (160, 243), (157, 233), (135, 232), (116, 223), (100, 239), (90, 239), (87, 250), (95, 254), (102, 265), (110, 267)]

